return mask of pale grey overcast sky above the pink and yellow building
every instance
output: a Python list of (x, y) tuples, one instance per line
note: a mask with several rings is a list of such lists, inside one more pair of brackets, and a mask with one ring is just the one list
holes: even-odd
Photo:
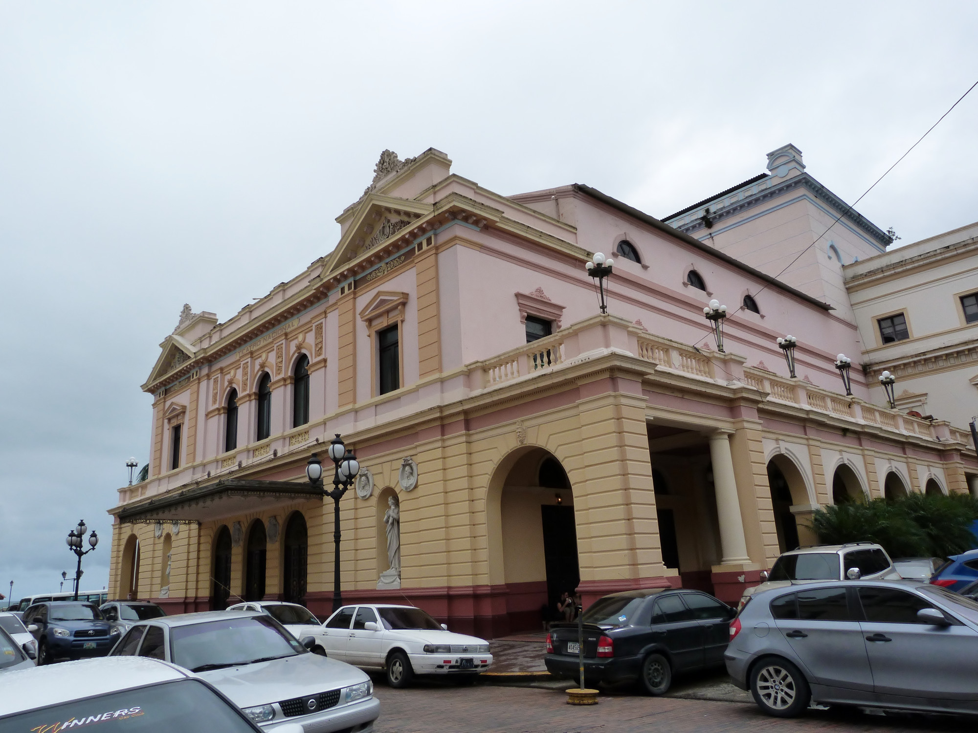
[[(139, 385), (185, 302), (222, 321), (333, 249), (385, 148), (501, 194), (665, 216), (793, 143), (855, 200), (978, 79), (974, 3), (0, 0), (0, 592), (106, 540)], [(859, 211), (978, 220), (978, 90)]]

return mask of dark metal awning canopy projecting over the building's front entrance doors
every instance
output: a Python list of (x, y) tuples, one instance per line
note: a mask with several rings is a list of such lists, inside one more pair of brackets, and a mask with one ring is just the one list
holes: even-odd
[(131, 524), (200, 523), (312, 499), (322, 501), (323, 490), (307, 482), (220, 479), (125, 506), (118, 518)]

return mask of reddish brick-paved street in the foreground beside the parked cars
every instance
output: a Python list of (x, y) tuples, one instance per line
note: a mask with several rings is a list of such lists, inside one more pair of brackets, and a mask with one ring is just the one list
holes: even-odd
[(867, 715), (859, 712), (810, 711), (802, 718), (780, 720), (753, 705), (640, 695), (601, 696), (600, 705), (575, 708), (559, 691), (522, 687), (456, 687), (423, 684), (392, 690), (378, 681), (378, 733), (630, 733), (685, 731), (973, 731), (965, 718), (924, 715)]

